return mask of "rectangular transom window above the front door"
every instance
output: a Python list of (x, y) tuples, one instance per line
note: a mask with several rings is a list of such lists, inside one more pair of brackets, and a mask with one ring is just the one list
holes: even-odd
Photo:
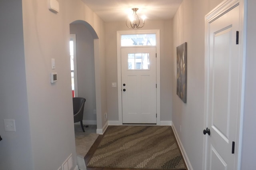
[(121, 35), (121, 46), (155, 46), (156, 34), (124, 34)]

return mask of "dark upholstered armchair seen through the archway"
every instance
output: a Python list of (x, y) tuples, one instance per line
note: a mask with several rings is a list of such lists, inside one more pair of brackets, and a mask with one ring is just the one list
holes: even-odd
[(84, 115), (85, 101), (86, 99), (82, 97), (73, 97), (74, 123), (80, 122), (83, 132), (84, 132), (83, 115)]

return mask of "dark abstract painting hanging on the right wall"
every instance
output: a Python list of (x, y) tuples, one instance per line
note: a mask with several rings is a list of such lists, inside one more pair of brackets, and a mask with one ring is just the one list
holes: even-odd
[(177, 95), (187, 103), (187, 43), (176, 47), (177, 50)]

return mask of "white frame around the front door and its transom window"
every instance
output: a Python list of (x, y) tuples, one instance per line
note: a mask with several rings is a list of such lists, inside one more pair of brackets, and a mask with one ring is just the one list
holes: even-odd
[[(160, 125), (160, 30), (129, 30), (117, 31), (117, 87), (118, 87), (118, 121), (119, 125), (123, 124), (122, 116), (122, 74), (121, 74), (121, 35), (124, 34), (156, 34), (156, 125)], [(146, 47), (146, 46), (132, 46), (132, 47)]]

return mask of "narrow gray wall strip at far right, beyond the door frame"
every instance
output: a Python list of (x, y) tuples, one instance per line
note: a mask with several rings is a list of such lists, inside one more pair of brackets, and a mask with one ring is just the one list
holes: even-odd
[(256, 162), (256, 56), (255, 56), (255, 40), (256, 40), (256, 2), (248, 0), (247, 9), (247, 41), (246, 41), (246, 80), (245, 80), (245, 99), (244, 99), (244, 125), (242, 139), (242, 160), (241, 170), (255, 169)]

